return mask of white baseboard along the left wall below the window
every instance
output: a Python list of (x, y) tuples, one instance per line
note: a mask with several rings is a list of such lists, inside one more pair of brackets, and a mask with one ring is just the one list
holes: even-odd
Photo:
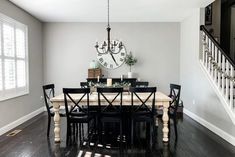
[(11, 122), (10, 124), (5, 125), (4, 127), (0, 128), (0, 136), (42, 112), (44, 112), (44, 107), (41, 107), (37, 109), (36, 111), (33, 111), (30, 114), (23, 116), (14, 122)]

